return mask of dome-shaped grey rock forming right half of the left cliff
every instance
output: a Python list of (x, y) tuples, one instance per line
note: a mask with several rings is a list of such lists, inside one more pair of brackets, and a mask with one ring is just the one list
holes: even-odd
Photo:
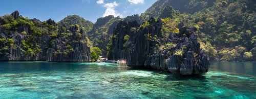
[[(88, 62), (91, 60), (90, 47), (87, 45), (87, 39), (81, 36), (84, 32), (78, 31), (78, 27), (71, 26), (72, 32), (68, 36), (59, 33), (59, 36), (53, 40), (52, 47), (47, 50), (47, 61), (57, 62)], [(64, 30), (65, 31), (65, 30)]]

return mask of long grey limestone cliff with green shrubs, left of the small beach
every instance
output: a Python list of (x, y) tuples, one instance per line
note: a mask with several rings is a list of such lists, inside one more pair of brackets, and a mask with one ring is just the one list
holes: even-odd
[[(71, 22), (62, 20), (60, 26), (51, 19), (41, 22), (19, 16), (18, 11), (0, 17), (0, 60), (90, 61), (86, 31), (93, 23), (79, 16), (68, 17)], [(72, 22), (84, 24), (69, 24)]]

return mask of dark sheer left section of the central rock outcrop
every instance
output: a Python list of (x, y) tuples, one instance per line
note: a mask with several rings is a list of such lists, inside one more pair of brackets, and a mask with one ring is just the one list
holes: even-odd
[[(112, 60), (125, 59), (130, 67), (167, 69), (163, 64), (164, 61), (159, 61), (165, 57), (162, 55), (163, 53), (155, 52), (154, 48), (158, 42), (146, 38), (146, 35), (149, 34), (160, 37), (162, 22), (151, 18), (149, 23), (148, 26), (142, 27), (137, 21), (119, 22), (113, 33), (114, 38), (108, 58)], [(125, 41), (126, 35), (130, 38)]]

